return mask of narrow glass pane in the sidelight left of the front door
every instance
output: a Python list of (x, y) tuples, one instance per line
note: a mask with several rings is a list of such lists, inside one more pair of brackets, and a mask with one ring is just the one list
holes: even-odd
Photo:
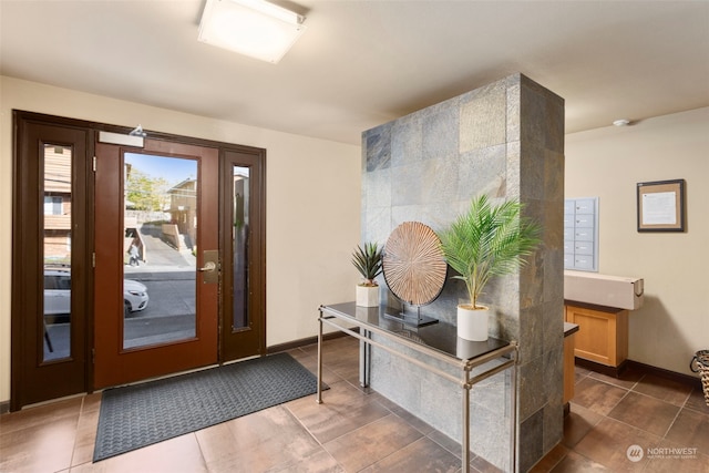
[(70, 147), (44, 145), (44, 361), (71, 356), (71, 155)]

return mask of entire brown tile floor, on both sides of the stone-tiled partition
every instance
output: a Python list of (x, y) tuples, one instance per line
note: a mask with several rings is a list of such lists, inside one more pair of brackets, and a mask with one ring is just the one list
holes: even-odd
[[(302, 398), (91, 463), (101, 394), (0, 417), (0, 472), (458, 472), (460, 451), (358, 387), (358, 342), (325, 343), (325, 403)], [(317, 347), (290, 353), (315, 371)], [(577, 368), (564, 439), (534, 472), (709, 472), (709, 407), (700, 390), (651, 374), (613, 379)], [(637, 444), (644, 457), (626, 455)], [(649, 457), (647, 449), (655, 457)], [(691, 457), (672, 459), (670, 449)], [(696, 453), (695, 453), (696, 452)], [(480, 457), (474, 472), (496, 469)]]

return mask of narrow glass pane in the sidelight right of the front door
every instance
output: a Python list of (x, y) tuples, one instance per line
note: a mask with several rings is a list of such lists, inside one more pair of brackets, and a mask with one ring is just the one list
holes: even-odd
[(249, 169), (234, 166), (234, 192), (232, 196), (232, 244), (234, 254), (234, 313), (232, 330), (249, 326), (248, 313), (248, 203)]

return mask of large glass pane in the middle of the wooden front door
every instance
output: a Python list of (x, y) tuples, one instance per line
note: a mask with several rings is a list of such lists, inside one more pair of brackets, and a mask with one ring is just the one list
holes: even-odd
[(124, 349), (196, 336), (197, 222), (197, 161), (124, 155)]

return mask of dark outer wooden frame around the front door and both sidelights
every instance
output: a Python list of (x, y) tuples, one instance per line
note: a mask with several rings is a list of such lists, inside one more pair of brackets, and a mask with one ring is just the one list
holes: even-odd
[[(120, 133), (120, 134), (127, 134), (132, 131), (132, 128), (127, 126), (119, 126), (119, 125), (112, 125), (106, 123), (91, 122), (91, 121), (62, 117), (58, 115), (49, 115), (43, 113), (35, 113), (35, 112), (28, 112), (28, 111), (20, 111), (20, 110), (13, 110), (12, 116), (13, 116), (14, 143), (13, 143), (13, 177), (12, 177), (12, 186), (13, 186), (12, 200), (13, 202), (12, 202), (12, 254), (11, 254), (12, 269), (11, 269), (11, 274), (12, 274), (13, 284), (12, 284), (12, 290), (11, 290), (11, 312), (10, 312), (10, 317), (11, 317), (11, 321), (10, 321), (10, 325), (11, 325), (10, 410), (17, 411), (17, 410), (20, 410), (23, 405), (27, 405), (33, 402), (39, 402), (35, 400), (25, 402), (21, 393), (23, 389), (22, 382), (24, 381), (23, 380), (24, 378), (23, 362), (25, 362), (24, 360), (25, 357), (22, 354), (22, 350), (21, 350), (22, 349), (21, 340), (23, 340), (24, 337), (29, 336), (27, 333), (28, 327), (23, 321), (24, 320), (23, 316), (25, 315), (24, 312), (27, 311), (23, 304), (28, 300), (28, 297), (31, 290), (31, 288), (28, 288), (27, 285), (18, 284), (18, 281), (21, 280), (20, 277), (22, 276), (22, 268), (21, 268), (21, 264), (23, 261), (22, 251), (25, 250), (25, 246), (18, 244), (18, 241), (20, 241), (22, 238), (21, 233), (19, 233), (19, 227), (21, 225), (21, 217), (23, 213), (28, 212), (28, 209), (24, 208), (23, 206), (22, 199), (20, 198), (21, 194), (19, 192), (20, 187), (22, 186), (21, 179), (24, 177), (21, 161), (22, 161), (23, 152), (25, 152), (25, 150), (23, 150), (23, 146), (25, 146), (25, 144), (22, 142), (21, 135), (20, 135), (20, 132), (22, 131), (22, 126), (23, 126), (22, 123), (37, 123), (37, 124), (44, 124), (50, 126), (64, 126), (68, 128), (85, 131), (88, 133), (88, 140), (86, 140), (86, 161), (88, 162), (91, 161), (91, 158), (94, 156), (95, 134), (97, 134), (97, 132), (105, 131), (105, 132), (113, 132), (113, 133)], [(264, 240), (261, 241), (260, 251), (258, 253), (258, 255), (256, 255), (257, 260), (254, 263), (257, 264), (259, 268), (261, 268), (261, 279), (258, 281), (258, 285), (259, 285), (259, 288), (261, 289), (259, 299), (263, 301), (263, 304), (261, 304), (261, 313), (258, 313), (258, 316), (261, 318), (260, 329), (261, 329), (263, 343), (259, 350), (259, 354), (266, 354), (266, 346), (265, 346), (266, 345), (265, 343), (265, 340), (266, 340), (266, 302), (265, 302), (266, 301), (266, 276), (265, 276), (265, 271), (266, 271), (266, 244), (265, 244), (265, 238), (266, 238), (266, 203), (265, 203), (266, 150), (254, 147), (254, 146), (217, 142), (212, 140), (174, 135), (169, 133), (148, 131), (148, 134), (151, 138), (155, 138), (155, 140), (162, 140), (162, 141), (195, 145), (195, 146), (217, 147), (219, 150), (220, 160), (224, 160), (224, 155), (227, 151), (255, 155), (258, 157), (258, 160), (260, 160), (263, 175), (259, 182), (259, 185), (261, 186), (260, 187), (261, 193), (258, 197), (263, 198), (263, 208), (261, 208), (263, 223), (261, 223), (260, 232)], [(86, 195), (93, 195), (93, 179), (88, 178), (85, 185), (86, 185), (86, 188), (85, 188)], [(88, 214), (85, 216), (86, 245), (85, 245), (85, 250), (83, 253), (85, 254), (86, 267), (89, 268), (90, 267), (89, 261), (91, 260), (91, 255), (94, 251), (94, 248), (93, 248), (94, 215), (91, 208), (86, 210), (86, 214)], [(33, 297), (37, 295), (34, 294)], [(93, 308), (93, 274), (88, 277), (88, 282), (85, 286), (85, 296), (86, 296), (86, 302), (85, 302), (86, 307)], [(222, 313), (219, 313), (219, 323), (223, 323)], [(94, 326), (93, 326), (93, 315), (90, 313), (90, 311), (88, 311), (86, 313), (84, 331), (85, 331), (85, 335), (83, 337), (83, 340), (84, 340), (84, 347), (85, 347), (85, 350), (84, 350), (85, 361), (83, 363), (84, 364), (83, 376), (84, 376), (85, 382), (84, 382), (83, 392), (93, 392), (94, 379), (93, 379), (93, 360), (92, 360), (91, 352), (94, 346), (94, 340), (93, 340)], [(219, 362), (225, 361), (220, 353), (218, 357), (219, 357), (218, 358)]]

